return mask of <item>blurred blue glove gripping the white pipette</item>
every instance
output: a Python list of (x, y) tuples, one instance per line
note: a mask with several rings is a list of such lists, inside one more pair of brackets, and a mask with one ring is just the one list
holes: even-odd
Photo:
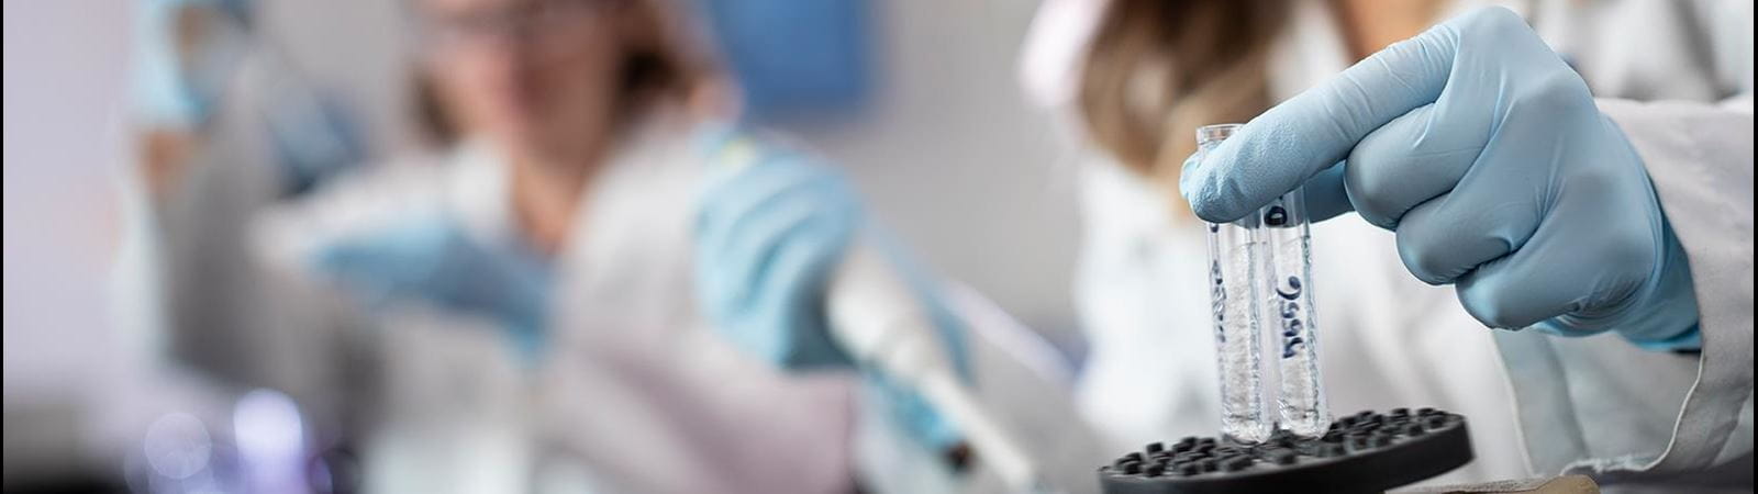
[[(696, 216), (696, 290), (705, 313), (737, 346), (784, 369), (853, 367), (825, 316), (825, 288), (861, 229), (904, 271), (928, 308), (953, 366), (969, 374), (962, 322), (933, 283), (888, 237), (865, 225), (847, 181), (810, 156), (717, 127), (698, 139), (708, 162)], [(867, 373), (891, 413), (928, 447), (958, 432), (911, 390)]]

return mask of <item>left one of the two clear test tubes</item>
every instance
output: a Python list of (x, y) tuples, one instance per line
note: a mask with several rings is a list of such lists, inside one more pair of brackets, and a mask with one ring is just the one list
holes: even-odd
[[(1197, 128), (1197, 153), (1208, 153), (1239, 125)], [(1201, 158), (1201, 156), (1199, 156)], [(1220, 367), (1222, 432), (1246, 443), (1269, 438), (1275, 424), (1266, 417), (1262, 394), (1260, 334), (1260, 251), (1264, 241), (1255, 232), (1260, 216), (1250, 214), (1232, 223), (1208, 225), (1210, 301), (1215, 315), (1215, 362)]]

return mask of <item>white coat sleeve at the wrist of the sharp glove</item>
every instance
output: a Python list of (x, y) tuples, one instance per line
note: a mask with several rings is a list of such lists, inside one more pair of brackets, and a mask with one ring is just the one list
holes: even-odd
[(1686, 250), (1704, 338), (1696, 383), (1653, 473), (1751, 454), (1753, 114), (1744, 102), (1600, 100), (1647, 163)]

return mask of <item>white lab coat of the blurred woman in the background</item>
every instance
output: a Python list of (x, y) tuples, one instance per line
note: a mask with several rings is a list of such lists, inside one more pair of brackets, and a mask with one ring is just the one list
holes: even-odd
[[(378, 318), (383, 420), (367, 447), (383, 492), (879, 492), (999, 489), (955, 476), (897, 432), (849, 373), (786, 373), (724, 341), (694, 302), (691, 225), (703, 162), (689, 128), (654, 118), (594, 176), (554, 260), (550, 339), (522, 367), (508, 338), (471, 315), (408, 304)], [(506, 174), (487, 146), (390, 165), (264, 220), (271, 264), (339, 236), (443, 211), (489, 243), (515, 232)], [(311, 280), (325, 283), (323, 280)], [(969, 290), (983, 401), (1072, 492), (1095, 489), (1102, 454), (1071, 406), (1067, 366)], [(1021, 403), (1048, 401), (1021, 406)], [(1048, 427), (1055, 424), (1055, 427)], [(1074, 425), (1067, 425), (1074, 424)]]

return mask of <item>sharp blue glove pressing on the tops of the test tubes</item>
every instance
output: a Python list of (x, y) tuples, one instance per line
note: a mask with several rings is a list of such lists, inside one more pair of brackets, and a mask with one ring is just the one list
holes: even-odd
[(1210, 222), (1301, 185), (1315, 218), (1355, 209), (1396, 230), (1405, 267), (1456, 283), (1486, 325), (1700, 345), (1686, 257), (1642, 158), (1507, 9), (1355, 63), (1187, 162), (1180, 179)]

